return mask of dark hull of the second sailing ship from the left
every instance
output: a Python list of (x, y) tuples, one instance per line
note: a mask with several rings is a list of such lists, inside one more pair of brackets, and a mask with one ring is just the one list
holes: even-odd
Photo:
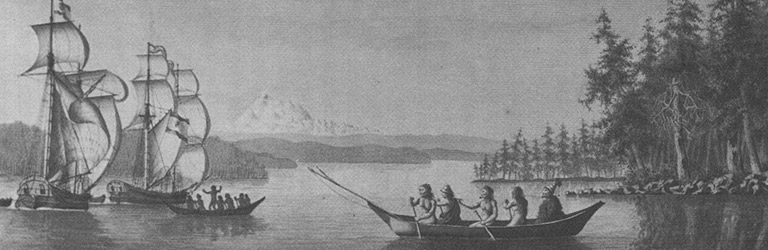
[(134, 204), (183, 204), (188, 195), (187, 190), (165, 193), (144, 190), (122, 181), (110, 182), (107, 192), (111, 202)]

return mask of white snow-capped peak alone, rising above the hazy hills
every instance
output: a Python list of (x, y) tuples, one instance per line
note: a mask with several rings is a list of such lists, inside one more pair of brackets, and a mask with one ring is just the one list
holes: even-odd
[(280, 100), (268, 94), (261, 95), (253, 102), (251, 107), (235, 121), (235, 127), (239, 132), (263, 134), (340, 136), (380, 133), (377, 129), (315, 119), (300, 104), (290, 100)]

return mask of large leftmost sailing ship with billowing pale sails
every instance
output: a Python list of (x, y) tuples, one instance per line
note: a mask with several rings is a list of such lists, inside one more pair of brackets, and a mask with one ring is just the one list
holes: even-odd
[[(17, 208), (87, 210), (90, 190), (111, 166), (122, 125), (116, 102), (128, 87), (107, 70), (84, 70), (90, 56), (88, 40), (63, 2), (48, 23), (33, 25), (39, 53), (23, 72), (44, 82), (40, 107), (42, 160), (19, 183)], [(57, 18), (61, 15), (61, 18)], [(63, 19), (56, 21), (56, 19)], [(45, 76), (45, 80), (37, 79)]]

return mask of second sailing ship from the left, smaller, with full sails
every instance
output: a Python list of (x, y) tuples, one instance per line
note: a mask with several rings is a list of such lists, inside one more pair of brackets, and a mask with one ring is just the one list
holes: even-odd
[[(191, 69), (168, 60), (163, 46), (147, 43), (146, 54), (132, 80), (139, 102), (127, 133), (141, 139), (133, 166), (133, 183), (107, 185), (112, 202), (181, 204), (208, 178), (203, 143), (210, 118), (198, 94), (200, 83)], [(135, 133), (139, 132), (139, 133)], [(140, 135), (139, 135), (140, 134)]]

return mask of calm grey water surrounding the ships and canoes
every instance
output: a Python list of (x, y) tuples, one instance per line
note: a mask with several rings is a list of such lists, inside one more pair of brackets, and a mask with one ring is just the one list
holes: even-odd
[[(431, 165), (312, 164), (348, 188), (391, 212), (410, 214), (409, 196), (417, 186), (438, 190), (451, 184), (458, 196), (475, 200), (479, 184), (470, 183), (466, 162)], [(352, 196), (339, 197), (306, 170), (270, 170), (269, 181), (238, 180), (225, 192), (246, 192), (267, 199), (249, 217), (176, 216), (163, 206), (94, 205), (80, 211), (0, 209), (2, 249), (766, 249), (768, 202), (754, 197), (603, 196), (564, 197), (566, 212), (598, 200), (606, 202), (575, 237), (557, 239), (399, 238)], [(108, 182), (109, 180), (107, 180)], [(106, 183), (106, 182), (104, 182)], [(18, 179), (0, 182), (0, 196), (14, 193)], [(565, 183), (564, 190), (614, 183)], [(511, 186), (492, 185), (497, 200)], [(523, 184), (536, 214), (542, 183)], [(94, 195), (101, 195), (97, 187)], [(205, 196), (203, 196), (205, 197)], [(508, 218), (505, 211), (502, 219)], [(462, 211), (463, 218), (474, 213)], [(765, 221), (765, 223), (764, 223)]]

